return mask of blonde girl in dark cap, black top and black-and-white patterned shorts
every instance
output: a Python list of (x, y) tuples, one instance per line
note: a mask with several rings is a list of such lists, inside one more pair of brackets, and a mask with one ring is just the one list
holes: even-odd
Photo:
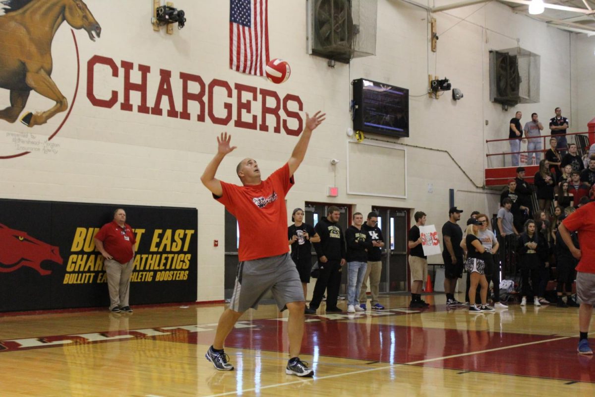
[[(469, 277), (471, 277), (471, 285), (469, 286), (469, 312), (493, 312), (494, 309), (487, 305), (487, 280), (486, 280), (486, 258), (484, 254), (486, 248), (481, 243), (479, 237), (480, 223), (476, 219), (469, 218), (466, 229), (467, 236), (465, 243), (467, 246), (467, 261), (465, 267)], [(481, 306), (475, 305), (475, 291), (477, 285), (481, 286)]]

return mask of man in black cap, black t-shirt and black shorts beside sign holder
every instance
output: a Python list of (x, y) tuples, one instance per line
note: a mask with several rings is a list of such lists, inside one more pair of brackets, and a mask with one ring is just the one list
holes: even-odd
[(452, 207), (449, 210), (449, 220), (442, 226), (442, 238), (444, 239), (444, 251), (442, 259), (444, 261), (444, 293), (446, 293), (446, 305), (462, 305), (455, 299), (455, 287), (457, 279), (463, 276), (463, 249), (461, 241), (463, 231), (458, 224), (461, 220), (459, 208)]

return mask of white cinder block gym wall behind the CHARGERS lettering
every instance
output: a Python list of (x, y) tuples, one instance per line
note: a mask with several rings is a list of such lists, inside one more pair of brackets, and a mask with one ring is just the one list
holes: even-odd
[[(234, 127), (236, 92), (233, 91), (233, 98), (226, 98), (223, 89), (214, 91), (213, 106), (221, 116), (224, 102), (233, 104), (232, 121), (227, 126), (213, 124), (208, 115), (204, 122), (196, 121), (199, 112), (196, 102), (189, 103), (190, 120), (167, 117), (167, 96), (161, 102), (163, 115), (138, 112), (137, 92), (130, 94), (133, 111), (123, 111), (120, 109), (124, 101), (122, 61), (133, 63), (131, 81), (135, 83), (140, 82), (139, 64), (151, 68), (147, 79), (148, 107), (154, 106), (159, 69), (171, 71), (177, 111), (182, 107), (180, 72), (201, 76), (205, 85), (220, 79), (232, 89), (240, 83), (275, 90), (280, 98), (288, 93), (299, 96), (304, 111), (324, 110), (327, 120), (315, 132), (306, 160), (297, 171), (297, 185), (287, 197), (288, 208), (302, 207), (305, 201), (352, 204), (354, 210), (364, 214), (373, 205), (411, 208), (426, 212), (428, 223), (435, 223), (438, 229), (447, 219), (449, 189), (456, 191), (456, 205), (468, 212), (480, 210), (491, 214), (497, 210), (497, 196), (481, 189), (486, 165), (485, 140), (508, 136), (508, 121), (516, 108), (505, 112), (500, 105), (489, 101), (488, 50), (514, 47), (518, 40), (522, 48), (541, 55), (541, 102), (517, 107), (524, 112), (523, 121), (534, 111), (541, 120), (546, 120), (552, 117), (556, 106), (562, 107), (565, 115), (572, 113), (573, 118), (578, 118), (578, 122), (573, 120), (572, 130), (585, 130), (584, 124), (593, 117), (589, 88), (593, 86), (590, 73), (593, 49), (588, 49), (591, 40), (513, 14), (511, 8), (499, 3), (434, 14), (440, 35), (439, 49), (434, 54), (428, 50), (427, 11), (398, 0), (378, 0), (376, 55), (329, 68), (326, 60), (306, 54), (305, 2), (269, 0), (271, 58), (284, 58), (292, 66), (291, 78), (280, 86), (229, 70), (228, 2), (177, 1), (176, 7), (186, 11), (188, 21), (173, 36), (153, 32), (149, 24), (149, 1), (143, 1), (142, 7), (140, 3), (140, 0), (87, 0), (101, 24), (102, 35), (91, 42), (84, 31), (74, 31), (80, 60), (74, 105), (77, 57), (70, 26), (62, 24), (52, 45), (52, 79), (68, 98), (70, 117), (52, 139), (52, 145), (48, 145), (47, 137), (58, 128), (65, 113), (32, 129), (0, 120), (0, 156), (18, 153), (23, 147), (41, 148), (28, 155), (0, 160), (0, 196), (198, 208), (199, 301), (223, 299), (224, 247), (221, 244), (214, 248), (212, 240), (224, 241), (224, 210), (199, 180), (215, 152), (216, 134), (231, 133), (233, 144), (238, 146), (218, 173), (220, 179), (228, 182), (237, 182), (235, 166), (248, 156), (256, 158), (264, 174), (272, 172), (289, 158), (297, 139), (283, 129), (281, 133), (273, 133), (274, 117), (270, 115), (269, 132)], [(466, 20), (461, 21), (462, 18)], [(559, 54), (556, 58), (549, 56), (553, 48)], [(94, 84), (90, 85), (87, 65), (95, 55), (111, 58), (118, 76), (112, 76), (107, 65), (96, 65)], [(396, 142), (423, 148), (406, 146), (408, 198), (347, 195), (350, 81), (366, 77), (407, 87), (414, 96), (425, 93), (428, 74), (448, 77), (453, 87), (461, 89), (465, 96), (458, 102), (450, 99), (450, 92), (439, 100), (427, 96), (410, 99), (411, 137)], [(196, 92), (198, 85), (191, 85), (190, 91)], [(89, 90), (101, 99), (108, 99), (115, 91), (118, 101), (111, 108), (95, 106), (89, 99)], [(246, 94), (243, 98), (251, 99)], [(9, 103), (8, 91), (0, 90), (0, 108)], [(32, 93), (26, 110), (41, 111), (51, 106), (51, 101)], [(290, 102), (289, 108), (296, 111), (297, 104)], [(258, 117), (259, 124), (260, 110), (258, 96), (250, 113)], [(249, 120), (250, 115), (245, 112), (243, 118)], [(297, 124), (291, 118), (287, 123), (290, 128)], [(14, 134), (19, 134), (23, 141), (15, 142)], [(489, 150), (501, 151), (506, 146), (494, 145)], [(331, 158), (342, 160), (336, 166), (336, 175), (329, 164)], [(374, 170), (382, 164), (369, 166)], [(327, 198), (327, 186), (335, 183), (339, 197)], [(428, 183), (433, 185), (431, 193)], [(439, 257), (431, 258), (431, 262), (440, 261)]]

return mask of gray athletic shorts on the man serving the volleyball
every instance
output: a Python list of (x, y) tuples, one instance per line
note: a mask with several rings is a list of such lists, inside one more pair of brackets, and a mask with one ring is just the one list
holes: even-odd
[(279, 310), (283, 310), (288, 302), (305, 300), (302, 282), (289, 252), (277, 257), (239, 262), (229, 308), (237, 312), (256, 309), (268, 290), (273, 292)]

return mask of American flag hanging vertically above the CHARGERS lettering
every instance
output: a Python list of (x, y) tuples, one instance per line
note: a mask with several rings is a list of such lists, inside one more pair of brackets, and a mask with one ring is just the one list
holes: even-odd
[(229, 67), (264, 76), (268, 58), (268, 0), (230, 0)]

